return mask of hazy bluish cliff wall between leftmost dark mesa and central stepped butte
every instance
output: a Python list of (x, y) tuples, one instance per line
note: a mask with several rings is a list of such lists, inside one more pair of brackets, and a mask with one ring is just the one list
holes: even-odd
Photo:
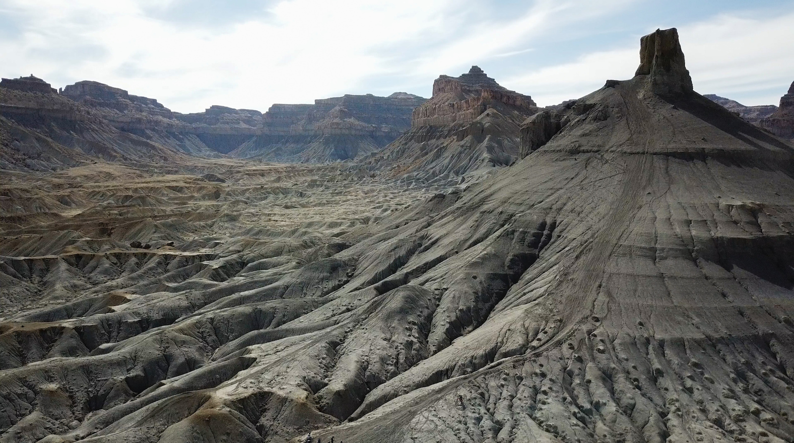
[(265, 114), (217, 105), (179, 114), (98, 82), (69, 85), (63, 94), (118, 129), (191, 155), (291, 163), (349, 160), (383, 148), (408, 129), (411, 112), (426, 101), (406, 93), (345, 95), (314, 105), (276, 104)]

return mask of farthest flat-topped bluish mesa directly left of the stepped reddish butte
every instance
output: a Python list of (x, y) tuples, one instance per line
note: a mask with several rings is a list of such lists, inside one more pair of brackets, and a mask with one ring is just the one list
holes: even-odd
[(348, 94), (314, 105), (276, 104), (264, 114), (260, 135), (230, 155), (290, 163), (352, 160), (399, 137), (423, 102), (426, 98), (395, 92), (388, 97)]

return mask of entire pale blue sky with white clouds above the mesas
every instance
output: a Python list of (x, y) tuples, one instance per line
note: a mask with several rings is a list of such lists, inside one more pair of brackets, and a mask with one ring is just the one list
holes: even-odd
[(0, 75), (264, 111), (430, 97), (477, 64), (545, 106), (630, 78), (639, 37), (670, 27), (701, 94), (777, 104), (794, 81), (794, 0), (0, 0)]

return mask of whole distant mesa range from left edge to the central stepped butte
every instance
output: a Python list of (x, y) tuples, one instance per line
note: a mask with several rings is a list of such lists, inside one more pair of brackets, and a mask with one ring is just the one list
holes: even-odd
[[(0, 116), (4, 120), (0, 125), (6, 127), (6, 133), (40, 125), (40, 135), (49, 140), (22, 146), (25, 142), (13, 142), (16, 139), (11, 137), (2, 145), (4, 154), (0, 158), (9, 168), (26, 162), (29, 165), (25, 167), (30, 168), (74, 165), (87, 160), (83, 154), (144, 163), (181, 154), (287, 163), (352, 160), (399, 137), (410, 127), (411, 112), (425, 101), (397, 92), (388, 97), (345, 95), (315, 100), (310, 105), (276, 104), (264, 114), (225, 106), (179, 114), (154, 98), (102, 83), (82, 81), (59, 93), (31, 75), (2, 79)], [(69, 128), (77, 121), (79, 131), (72, 134)], [(82, 137), (76, 134), (89, 130), (88, 125), (94, 135), (86, 136), (85, 141), (91, 143), (67, 141), (69, 137)], [(118, 146), (130, 143), (140, 146)], [(68, 147), (77, 151), (71, 152)], [(152, 156), (152, 150), (160, 153)], [(138, 154), (140, 158), (136, 158)]]

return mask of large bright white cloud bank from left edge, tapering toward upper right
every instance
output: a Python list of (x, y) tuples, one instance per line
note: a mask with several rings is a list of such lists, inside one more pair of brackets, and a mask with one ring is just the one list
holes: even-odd
[(537, 0), (497, 21), (476, 0), (290, 0), (264, 18), (201, 28), (148, 14), (177, 0), (0, 0), (0, 14), (26, 24), (18, 38), (0, 40), (0, 52), (4, 75), (33, 72), (56, 87), (94, 79), (180, 111), (264, 110), (368, 92), (362, 83), (381, 75), (429, 91), (441, 73), (524, 50), (557, 25), (631, 1)]

